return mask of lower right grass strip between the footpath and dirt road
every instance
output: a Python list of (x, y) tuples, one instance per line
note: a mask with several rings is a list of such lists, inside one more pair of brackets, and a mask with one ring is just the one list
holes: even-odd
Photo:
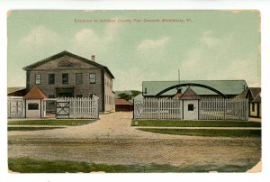
[(216, 129), (154, 129), (139, 128), (144, 132), (164, 134), (209, 136), (209, 137), (261, 137), (261, 130), (216, 130)]

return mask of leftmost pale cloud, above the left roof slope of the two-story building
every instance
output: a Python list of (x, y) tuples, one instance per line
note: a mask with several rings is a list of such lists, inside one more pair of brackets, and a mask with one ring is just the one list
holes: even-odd
[(43, 25), (33, 28), (25, 37), (21, 39), (24, 46), (40, 46), (58, 42), (59, 35)]

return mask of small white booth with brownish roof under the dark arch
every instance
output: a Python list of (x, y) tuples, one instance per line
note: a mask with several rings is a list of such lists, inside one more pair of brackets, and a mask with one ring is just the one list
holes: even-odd
[(188, 87), (180, 98), (183, 100), (183, 119), (198, 120), (199, 119), (199, 100), (201, 99), (191, 87)]

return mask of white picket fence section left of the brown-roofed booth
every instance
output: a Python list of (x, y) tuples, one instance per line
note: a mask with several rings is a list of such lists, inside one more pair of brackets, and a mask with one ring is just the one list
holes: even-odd
[(134, 119), (183, 119), (182, 100), (135, 98)]

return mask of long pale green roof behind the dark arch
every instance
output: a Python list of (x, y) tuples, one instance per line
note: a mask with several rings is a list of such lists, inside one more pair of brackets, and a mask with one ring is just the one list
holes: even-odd
[[(195, 84), (202, 84), (205, 86), (211, 86), (217, 90), (219, 90), (224, 95), (239, 95), (243, 92), (244, 86), (247, 87), (247, 83), (245, 80), (183, 80), (180, 84), (186, 83), (195, 83)], [(142, 91), (143, 96), (156, 96), (157, 93), (166, 89), (169, 86), (178, 85), (178, 81), (143, 81), (142, 82)], [(147, 93), (145, 93), (145, 88)], [(185, 91), (186, 87), (182, 87), (183, 92)], [(207, 95), (218, 95), (217, 93), (198, 86), (193, 87), (193, 91), (197, 93), (199, 96), (207, 96)], [(169, 90), (161, 96), (174, 96), (175, 89)]]

